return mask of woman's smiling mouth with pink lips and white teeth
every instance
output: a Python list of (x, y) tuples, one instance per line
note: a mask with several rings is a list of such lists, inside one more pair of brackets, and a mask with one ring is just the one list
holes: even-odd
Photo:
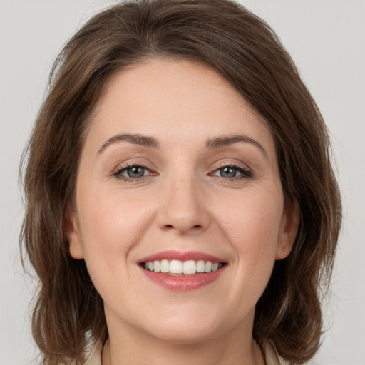
[(141, 259), (138, 265), (148, 279), (170, 290), (192, 290), (215, 282), (227, 262), (203, 252), (165, 251)]

